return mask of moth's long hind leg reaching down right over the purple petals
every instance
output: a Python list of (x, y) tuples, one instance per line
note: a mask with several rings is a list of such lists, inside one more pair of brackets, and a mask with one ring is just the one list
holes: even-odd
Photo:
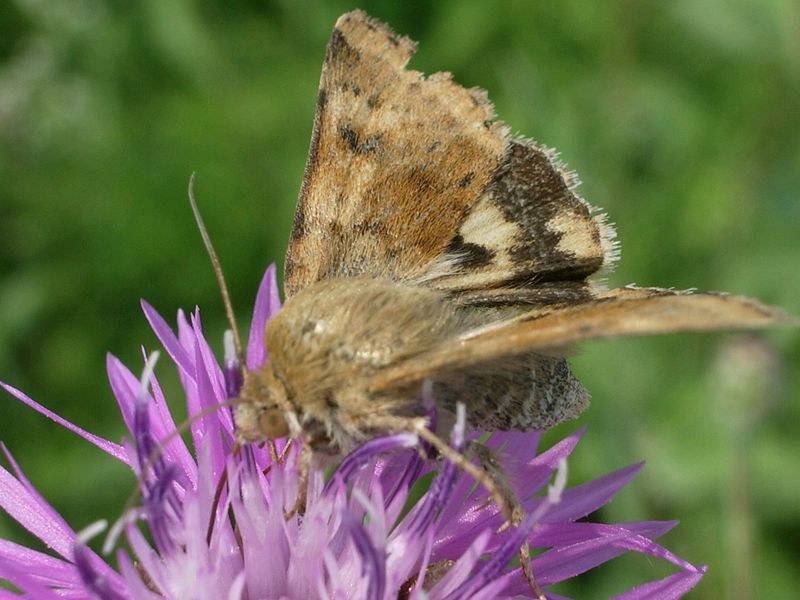
[[(436, 448), (441, 456), (452, 462), (457, 468), (467, 473), (477, 483), (486, 488), (486, 490), (492, 496), (492, 500), (494, 500), (494, 503), (505, 517), (506, 524), (510, 523), (516, 527), (522, 522), (522, 508), (520, 507), (519, 500), (517, 500), (516, 494), (513, 493), (513, 490), (511, 490), (510, 494), (508, 493), (510, 485), (503, 483), (502, 481), (498, 481), (498, 477), (493, 476), (491, 474), (491, 470), (475, 466), (472, 461), (470, 461), (461, 452), (453, 450), (453, 448), (450, 447), (450, 444), (428, 429), (428, 423), (425, 419), (416, 421), (416, 427), (414, 431), (417, 433), (417, 435), (419, 435), (419, 437)], [(497, 465), (497, 460), (493, 453), (491, 453), (488, 448), (484, 447), (484, 449), (486, 453), (491, 454), (492, 458), (490, 462), (493, 462), (495, 465)], [(485, 454), (485, 456), (489, 456), (489, 454)], [(502, 480), (505, 478), (501, 477), (500, 479)], [(504, 527), (505, 526), (506, 525), (504, 525)], [(527, 580), (534, 597), (536, 597), (538, 600), (545, 600), (545, 595), (539, 588), (539, 585), (536, 583), (536, 578), (533, 575), (530, 547), (527, 540), (523, 542), (522, 546), (520, 546), (519, 558), (520, 565), (522, 566), (522, 572), (525, 575), (525, 579)]]

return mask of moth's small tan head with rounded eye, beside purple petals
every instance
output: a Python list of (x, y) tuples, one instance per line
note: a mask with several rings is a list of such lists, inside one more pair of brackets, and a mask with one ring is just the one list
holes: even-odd
[(246, 373), (236, 406), (237, 435), (242, 442), (286, 437), (286, 388), (269, 365)]

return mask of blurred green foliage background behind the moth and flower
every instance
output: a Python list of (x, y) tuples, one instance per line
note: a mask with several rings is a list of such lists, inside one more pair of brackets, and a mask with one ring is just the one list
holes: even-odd
[[(282, 262), (324, 45), (351, 8), (5, 0), (0, 379), (118, 440), (104, 353), (138, 371), (140, 346), (156, 347), (138, 298), (166, 316), (198, 304), (210, 339), (221, 339), (219, 293), (186, 201), (192, 171), (247, 315), (263, 269)], [(514, 130), (561, 151), (617, 224), (612, 284), (726, 289), (800, 314), (796, 2), (362, 8), (420, 41), (415, 68), (488, 89)], [(798, 336), (777, 331), (604, 342), (574, 360), (595, 403), (571, 481), (647, 460), (600, 517), (681, 519), (664, 543), (710, 565), (692, 597), (800, 589), (798, 358)], [(166, 363), (158, 373), (179, 406)], [(133, 484), (8, 396), (0, 438), (76, 528), (115, 518)], [(26, 539), (4, 517), (0, 534)], [(601, 598), (666, 573), (625, 557), (559, 589)]]

